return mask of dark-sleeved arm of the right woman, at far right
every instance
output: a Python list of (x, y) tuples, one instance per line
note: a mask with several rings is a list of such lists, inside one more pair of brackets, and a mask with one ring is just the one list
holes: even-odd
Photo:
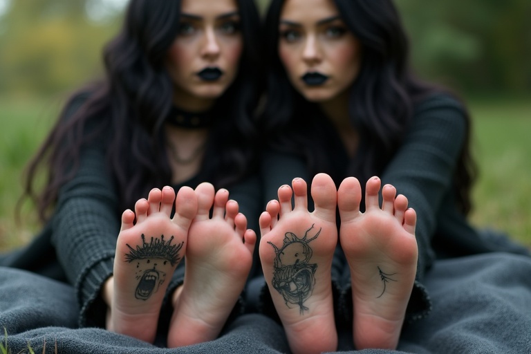
[(418, 276), (434, 261), (431, 239), (443, 199), (453, 187), (454, 172), (467, 133), (463, 108), (449, 96), (432, 97), (418, 106), (411, 129), (382, 175), (408, 198), (417, 213)]

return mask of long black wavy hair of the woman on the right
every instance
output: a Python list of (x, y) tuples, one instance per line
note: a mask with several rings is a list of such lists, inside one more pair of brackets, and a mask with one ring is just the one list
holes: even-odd
[[(421, 82), (411, 72), (409, 41), (391, 0), (333, 1), (362, 46), (360, 73), (351, 88), (348, 110), (351, 124), (360, 133), (359, 149), (363, 153), (351, 159), (348, 173), (367, 180), (380, 175), (397, 151), (413, 118), (413, 106), (443, 88)], [(319, 118), (322, 113), (316, 104), (295, 91), (279, 59), (283, 3), (284, 0), (271, 1), (264, 23), (269, 72), (268, 104), (261, 115), (261, 130), (272, 137), (270, 147), (302, 156), (308, 162), (310, 173), (316, 174), (326, 171), (330, 161), (330, 156), (315, 144), (323, 129), (323, 119)], [(470, 127), (468, 113), (466, 118)], [(454, 180), (458, 208), (465, 214), (472, 208), (470, 189), (476, 174), (469, 140), (467, 136)]]

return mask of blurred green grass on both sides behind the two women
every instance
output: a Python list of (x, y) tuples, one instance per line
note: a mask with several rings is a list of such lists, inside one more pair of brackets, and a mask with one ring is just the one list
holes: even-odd
[[(58, 100), (0, 97), (0, 250), (27, 243), (39, 230), (29, 205), (21, 225), (14, 210), (21, 173), (55, 121)], [(474, 119), (474, 155), (481, 176), (474, 188), (472, 223), (494, 227), (531, 247), (531, 101), (469, 101)]]

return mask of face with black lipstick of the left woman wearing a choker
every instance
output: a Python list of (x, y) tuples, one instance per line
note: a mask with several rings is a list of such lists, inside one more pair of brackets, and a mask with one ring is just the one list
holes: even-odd
[(174, 102), (201, 110), (234, 81), (243, 48), (236, 0), (183, 0), (167, 70)]

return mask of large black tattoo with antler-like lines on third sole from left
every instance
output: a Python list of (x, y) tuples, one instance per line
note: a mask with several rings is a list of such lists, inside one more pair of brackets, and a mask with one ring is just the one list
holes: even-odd
[(302, 239), (292, 232), (286, 232), (281, 248), (268, 242), (277, 254), (273, 264), (272, 286), (282, 295), (286, 306), (298, 305), (301, 315), (304, 314), (304, 310), (308, 310), (303, 304), (312, 295), (315, 285), (314, 274), (317, 270), (317, 264), (310, 264), (312, 249), (308, 243), (317, 239), (321, 229), (308, 239), (308, 232), (312, 229), (313, 225), (306, 230)]

